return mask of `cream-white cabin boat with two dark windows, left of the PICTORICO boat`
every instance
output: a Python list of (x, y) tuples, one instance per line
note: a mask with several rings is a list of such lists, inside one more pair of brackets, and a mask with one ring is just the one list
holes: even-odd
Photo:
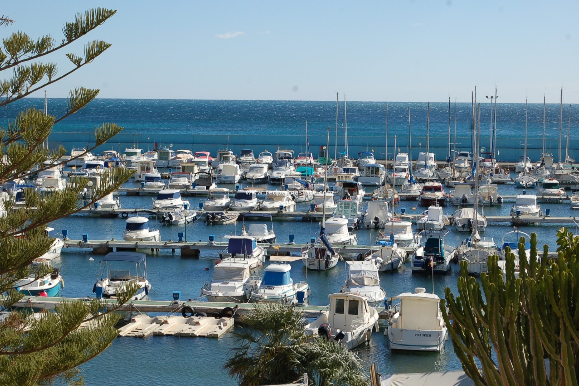
[(378, 331), (378, 311), (365, 297), (354, 293), (331, 293), (329, 309), (305, 326), (306, 334), (334, 339), (352, 349), (371, 340)]

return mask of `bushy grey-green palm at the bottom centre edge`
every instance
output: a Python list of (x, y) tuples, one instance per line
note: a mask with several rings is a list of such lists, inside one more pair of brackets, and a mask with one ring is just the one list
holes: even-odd
[(241, 386), (294, 383), (304, 373), (313, 386), (368, 385), (358, 356), (334, 340), (306, 336), (307, 322), (294, 307), (257, 304), (241, 323), (224, 366)]

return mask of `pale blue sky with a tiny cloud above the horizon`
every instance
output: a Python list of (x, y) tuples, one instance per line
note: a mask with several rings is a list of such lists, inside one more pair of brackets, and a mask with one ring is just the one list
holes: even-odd
[[(59, 41), (96, 6), (118, 13), (66, 52), (112, 47), (49, 97), (470, 101), (496, 84), (499, 102), (557, 103), (560, 87), (579, 102), (577, 1), (20, 1), (3, 6), (16, 23), (2, 35)], [(50, 57), (60, 73), (66, 52)]]

